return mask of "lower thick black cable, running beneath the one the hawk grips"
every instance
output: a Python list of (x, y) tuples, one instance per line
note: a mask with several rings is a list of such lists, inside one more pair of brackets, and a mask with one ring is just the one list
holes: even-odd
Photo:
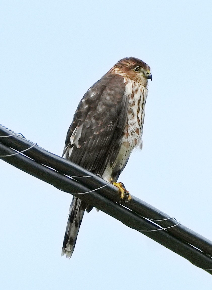
[[(16, 151), (8, 148), (0, 142), (0, 155), (10, 155), (15, 152)], [(79, 192), (89, 191), (89, 188), (51, 168), (38, 164), (22, 154), (1, 157), (1, 159), (45, 182), (48, 182), (49, 184), (54, 185), (58, 189), (81, 198), (85, 202), (92, 204), (101, 211), (111, 215), (117, 220), (120, 220), (132, 229), (136, 229), (137, 231), (140, 231), (141, 229), (148, 230), (148, 232), (143, 232), (143, 234), (186, 258), (195, 266), (212, 274), (212, 271), (210, 270), (212, 269), (212, 259), (208, 255), (205, 255), (191, 245), (180, 241), (165, 230), (152, 231), (159, 229), (156, 224), (140, 217), (124, 206), (117, 204), (96, 192), (80, 195)]]

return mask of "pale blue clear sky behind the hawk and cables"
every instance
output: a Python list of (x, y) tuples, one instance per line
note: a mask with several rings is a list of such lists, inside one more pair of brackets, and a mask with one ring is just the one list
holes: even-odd
[[(114, 63), (147, 62), (143, 149), (120, 176), (212, 239), (211, 1), (1, 1), (0, 123), (61, 155), (78, 102)], [(211, 276), (102, 212), (61, 257), (72, 196), (0, 160), (0, 289), (210, 289)]]

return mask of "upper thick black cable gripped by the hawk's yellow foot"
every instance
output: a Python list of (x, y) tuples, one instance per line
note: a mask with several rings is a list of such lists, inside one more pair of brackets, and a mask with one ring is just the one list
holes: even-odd
[[(20, 135), (20, 134), (19, 134)], [(21, 134), (22, 135), (22, 134)], [(3, 137), (1, 136), (10, 136)], [(23, 136), (23, 135), (22, 135)], [(7, 145), (8, 147), (14, 148), (15, 150), (22, 151), (30, 146), (32, 146), (32, 142), (25, 139), (24, 137), (19, 137), (11, 130), (8, 130), (4, 126), (0, 125), (0, 141)], [(34, 159), (36, 162), (45, 164), (51, 168), (54, 168), (56, 171), (63, 173), (65, 175), (74, 176), (76, 180), (89, 187), (89, 189), (94, 190), (101, 186), (107, 184), (105, 180), (103, 180), (99, 176), (93, 176), (89, 178), (82, 178), (83, 176), (91, 176), (91, 173), (80, 166), (65, 160), (57, 155), (54, 155), (48, 151), (45, 151), (39, 146), (34, 146), (29, 151), (25, 151), (24, 153), (28, 157)], [(78, 176), (78, 178), (76, 177)], [(125, 207), (131, 209), (133, 212), (148, 218), (150, 220), (156, 220), (155, 223), (160, 225), (162, 228), (167, 228), (169, 233), (176, 236), (178, 239), (187, 242), (194, 247), (200, 249), (204, 253), (212, 256), (212, 242), (202, 235), (195, 233), (194, 231), (188, 229), (186, 226), (178, 224), (178, 222), (171, 218), (169, 215), (163, 213), (162, 211), (156, 209), (150, 204), (138, 199), (137, 197), (132, 196), (130, 202), (125, 203), (118, 200), (119, 190), (109, 184), (108, 186), (98, 189), (98, 193), (108, 197), (111, 200), (120, 202)]]

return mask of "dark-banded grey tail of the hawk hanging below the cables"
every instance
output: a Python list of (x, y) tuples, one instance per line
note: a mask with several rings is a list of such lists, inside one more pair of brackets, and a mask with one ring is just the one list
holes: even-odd
[(76, 238), (83, 219), (86, 204), (77, 197), (73, 197), (63, 240), (62, 256), (71, 258), (76, 244)]

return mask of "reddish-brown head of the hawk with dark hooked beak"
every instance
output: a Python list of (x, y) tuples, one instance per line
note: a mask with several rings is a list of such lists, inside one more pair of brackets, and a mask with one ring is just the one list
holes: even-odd
[(111, 69), (113, 73), (132, 79), (142, 86), (147, 86), (148, 79), (152, 80), (150, 67), (142, 60), (135, 57), (120, 59)]

